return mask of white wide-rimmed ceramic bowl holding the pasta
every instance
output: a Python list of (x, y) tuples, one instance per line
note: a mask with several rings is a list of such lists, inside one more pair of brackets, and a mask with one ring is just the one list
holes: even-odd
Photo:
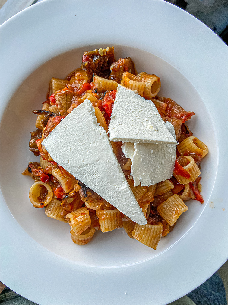
[[(45, 0), (0, 27), (1, 275), (39, 304), (166, 304), (211, 276), (227, 259), (227, 46), (185, 11), (161, 0)], [(98, 232), (80, 247), (69, 226), (28, 199), (21, 172), (37, 161), (28, 149), (51, 77), (79, 67), (84, 51), (114, 45), (138, 72), (161, 78), (160, 95), (196, 115), (188, 126), (209, 147), (202, 196), (187, 203), (157, 250), (122, 229)], [(187, 234), (188, 233), (188, 234)], [(95, 297), (94, 297), (95, 296)]]

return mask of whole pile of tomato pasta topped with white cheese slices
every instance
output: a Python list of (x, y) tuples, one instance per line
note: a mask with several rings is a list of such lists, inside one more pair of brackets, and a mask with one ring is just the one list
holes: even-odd
[[(29, 199), (48, 217), (68, 223), (77, 245), (87, 244), (97, 230), (123, 228), (130, 238), (156, 249), (188, 210), (184, 201), (203, 203), (199, 164), (208, 148), (185, 124), (195, 113), (159, 96), (161, 82), (154, 74), (137, 73), (130, 57), (116, 60), (114, 47), (99, 48), (85, 52), (81, 67), (65, 79), (52, 78), (46, 101), (33, 110), (36, 130), (29, 150), (39, 162), (29, 162), (22, 173), (34, 180)], [(86, 109), (88, 120), (80, 125)], [(73, 128), (81, 142), (60, 149), (56, 139), (63, 143)], [(90, 165), (94, 156), (97, 162)], [(113, 178), (96, 178), (98, 166)], [(129, 203), (121, 202), (122, 194)]]

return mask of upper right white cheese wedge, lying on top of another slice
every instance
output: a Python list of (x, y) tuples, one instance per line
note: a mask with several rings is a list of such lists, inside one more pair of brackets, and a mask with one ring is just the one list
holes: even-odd
[(118, 85), (109, 125), (112, 141), (176, 144), (154, 103)]

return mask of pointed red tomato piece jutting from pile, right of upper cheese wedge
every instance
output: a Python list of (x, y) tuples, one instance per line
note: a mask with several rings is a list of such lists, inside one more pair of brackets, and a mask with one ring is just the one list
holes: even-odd
[(166, 99), (165, 103), (167, 104), (167, 107), (165, 109), (167, 116), (181, 120), (182, 123), (190, 120), (191, 117), (195, 115), (194, 112), (185, 111), (184, 108), (182, 108), (180, 105), (178, 105), (176, 102), (172, 101), (171, 99)]

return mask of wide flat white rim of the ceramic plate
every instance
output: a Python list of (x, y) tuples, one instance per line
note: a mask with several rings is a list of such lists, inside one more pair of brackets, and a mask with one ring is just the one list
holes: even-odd
[[(162, 255), (140, 264), (97, 268), (77, 265), (36, 243), (12, 217), (1, 195), (0, 226), (4, 234), (1, 236), (0, 280), (36, 303), (52, 304), (55, 300), (55, 304), (86, 304), (93, 300), (94, 304), (166, 304), (199, 286), (227, 259), (227, 209), (223, 209), (228, 195), (224, 179), (227, 167), (227, 145), (224, 143), (228, 143), (228, 127), (225, 111), (219, 111), (225, 109), (228, 93), (227, 46), (199, 20), (162, 0), (143, 3), (117, 0), (113, 6), (113, 2), (103, 0), (93, 1), (89, 7), (81, 0), (45, 0), (5, 22), (0, 27), (0, 41), (7, 41), (0, 46), (3, 59), (0, 115), (14, 92), (10, 89), (16, 90), (33, 70), (58, 54), (104, 42), (151, 52), (185, 75), (203, 99), (208, 100), (208, 110), (217, 122), (217, 178), (209, 199), (215, 203), (214, 209), (207, 205), (190, 233)], [(102, 30), (94, 9), (100, 12), (99, 20), (105, 24)], [(82, 20), (85, 10), (91, 17), (86, 22), (96, 24), (92, 37), (83, 34), (85, 24), (84, 27), (78, 24), (74, 37), (69, 23), (67, 26), (62, 24), (62, 28), (57, 26), (58, 22), (72, 21), (72, 13)], [(116, 16), (116, 23), (109, 23), (110, 12)], [(159, 28), (151, 20), (152, 13), (157, 13), (163, 21)], [(122, 32), (118, 21), (125, 29)], [(153, 41), (148, 39), (147, 26), (154, 26)], [(170, 32), (167, 32), (168, 26)], [(52, 47), (44, 49), (50, 41), (47, 29), (52, 29)], [(134, 39), (131, 39), (132, 33)], [(59, 37), (64, 37), (65, 41), (58, 41)], [(5, 82), (12, 72), (17, 78)], [(216, 221), (212, 224), (209, 219)]]

